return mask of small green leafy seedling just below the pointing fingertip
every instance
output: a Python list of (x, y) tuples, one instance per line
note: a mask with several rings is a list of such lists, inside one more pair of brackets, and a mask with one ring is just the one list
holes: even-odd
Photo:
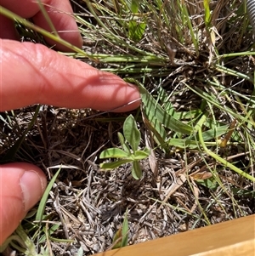
[[(123, 136), (124, 135), (124, 136)], [(139, 160), (142, 160), (150, 155), (150, 150), (144, 148), (139, 150), (139, 143), (141, 134), (137, 128), (137, 124), (132, 115), (129, 115), (123, 125), (123, 135), (118, 133), (119, 141), (122, 145), (122, 149), (110, 148), (102, 151), (99, 158), (120, 158), (116, 162), (103, 162), (100, 164), (100, 168), (105, 170), (111, 170), (118, 168), (124, 163), (132, 162), (132, 175), (134, 179), (140, 179), (142, 177), (142, 171), (139, 166)]]

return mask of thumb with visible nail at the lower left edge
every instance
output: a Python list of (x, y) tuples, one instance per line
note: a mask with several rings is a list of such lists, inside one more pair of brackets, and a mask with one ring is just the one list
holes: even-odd
[(42, 197), (47, 180), (42, 170), (28, 163), (0, 166), (0, 245)]

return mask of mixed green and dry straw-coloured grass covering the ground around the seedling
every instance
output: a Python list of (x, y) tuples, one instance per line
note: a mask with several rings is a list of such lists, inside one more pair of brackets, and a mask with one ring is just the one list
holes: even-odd
[(99, 153), (120, 147), (128, 114), (31, 106), (2, 115), (4, 160), (35, 162), (49, 178), (61, 168), (41, 221), (31, 211), (20, 227), (37, 252), (114, 247), (126, 210), (129, 244), (254, 213), (255, 50), (245, 1), (71, 3), (84, 53), (67, 55), (139, 86), (133, 117), (150, 156), (139, 180), (129, 164), (99, 170)]

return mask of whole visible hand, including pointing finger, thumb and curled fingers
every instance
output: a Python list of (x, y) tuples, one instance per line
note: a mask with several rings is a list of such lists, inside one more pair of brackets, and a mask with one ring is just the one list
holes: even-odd
[[(57, 31), (66, 41), (82, 47), (82, 38), (68, 0), (42, 0)], [(42, 28), (47, 22), (34, 0), (0, 0), (0, 5)], [(56, 9), (62, 12), (56, 12)], [(68, 14), (65, 14), (68, 13)], [(102, 72), (34, 43), (15, 41), (13, 23), (0, 16), (0, 111), (45, 104), (101, 111), (130, 111), (139, 106), (139, 91), (111, 73)], [(53, 42), (48, 42), (53, 43)], [(60, 50), (66, 50), (57, 45)], [(135, 101), (136, 100), (136, 101)], [(47, 179), (29, 163), (0, 166), (0, 245), (41, 198)]]

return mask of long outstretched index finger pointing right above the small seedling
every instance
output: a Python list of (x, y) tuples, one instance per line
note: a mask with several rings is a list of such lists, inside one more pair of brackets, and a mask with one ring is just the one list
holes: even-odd
[[(0, 111), (35, 103), (111, 111), (139, 99), (120, 77), (58, 54), (41, 44), (2, 40)], [(130, 111), (139, 101), (117, 111)]]

